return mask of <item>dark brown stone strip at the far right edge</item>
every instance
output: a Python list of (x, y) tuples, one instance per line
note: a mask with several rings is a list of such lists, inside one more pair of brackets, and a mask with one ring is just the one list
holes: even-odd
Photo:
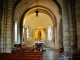
[(76, 36), (76, 48), (77, 52), (80, 52), (80, 0), (76, 1), (76, 7), (75, 7), (75, 36)]

